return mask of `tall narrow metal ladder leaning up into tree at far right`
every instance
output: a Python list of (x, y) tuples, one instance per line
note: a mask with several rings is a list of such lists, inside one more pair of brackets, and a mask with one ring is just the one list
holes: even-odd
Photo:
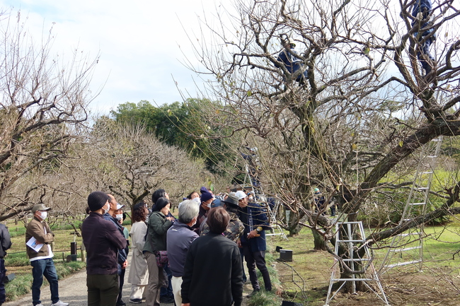
[[(425, 145), (425, 150), (420, 155), (420, 162), (417, 170), (406, 206), (404, 207), (399, 225), (406, 223), (416, 216), (425, 215), (428, 196), (430, 194), (433, 172), (436, 167), (437, 156), (441, 150), (442, 136), (432, 139)], [(395, 235), (391, 239), (391, 245), (386, 252), (386, 256), (381, 265), (381, 272), (388, 271), (395, 266), (407, 264), (418, 265), (418, 270), (422, 271), (423, 264), (423, 227), (421, 223), (415, 228), (407, 230), (405, 233)], [(393, 256), (396, 254), (396, 257)]]

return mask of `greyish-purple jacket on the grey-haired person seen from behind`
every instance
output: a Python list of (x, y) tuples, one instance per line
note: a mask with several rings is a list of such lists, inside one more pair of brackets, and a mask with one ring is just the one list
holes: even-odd
[(198, 234), (190, 226), (176, 221), (166, 234), (169, 268), (173, 276), (182, 277), (184, 273), (185, 257), (193, 240)]

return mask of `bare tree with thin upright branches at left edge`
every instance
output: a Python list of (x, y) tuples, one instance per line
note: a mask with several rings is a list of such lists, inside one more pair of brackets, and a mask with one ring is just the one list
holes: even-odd
[[(21, 12), (0, 20), (0, 220), (30, 211), (47, 192), (31, 175), (67, 158), (97, 93), (89, 84), (98, 59), (74, 50), (52, 54), (52, 32), (34, 42)], [(15, 187), (21, 181), (22, 189)], [(13, 193), (11, 193), (13, 192)]]

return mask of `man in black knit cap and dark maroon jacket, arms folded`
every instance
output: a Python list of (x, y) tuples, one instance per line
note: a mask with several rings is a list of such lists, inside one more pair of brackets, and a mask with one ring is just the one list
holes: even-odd
[(127, 246), (125, 236), (115, 224), (103, 218), (110, 209), (109, 196), (92, 192), (88, 196), (91, 213), (81, 226), (86, 247), (86, 286), (88, 306), (113, 306), (118, 296), (117, 253)]

